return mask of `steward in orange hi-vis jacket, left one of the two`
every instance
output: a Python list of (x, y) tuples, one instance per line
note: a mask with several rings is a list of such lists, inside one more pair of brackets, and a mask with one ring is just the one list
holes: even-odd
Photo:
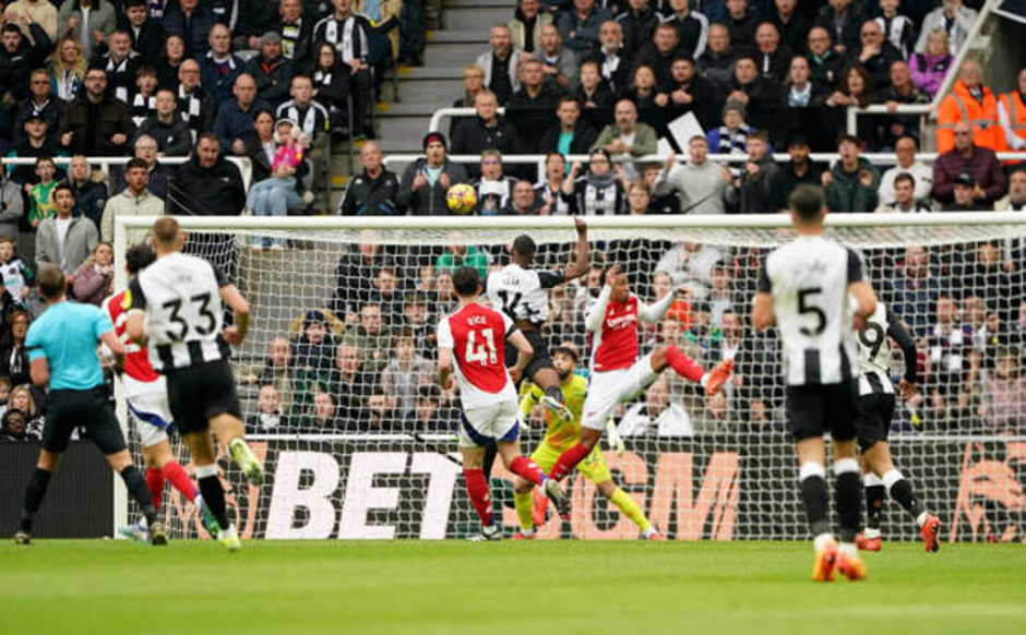
[[(974, 60), (963, 62), (950, 95), (941, 101), (936, 116), (936, 152), (944, 154), (955, 147), (955, 125), (971, 123), (973, 143), (981, 148), (1000, 152), (1004, 132), (998, 120), (998, 99), (983, 85), (983, 71)], [(979, 177), (977, 177), (979, 180)]]

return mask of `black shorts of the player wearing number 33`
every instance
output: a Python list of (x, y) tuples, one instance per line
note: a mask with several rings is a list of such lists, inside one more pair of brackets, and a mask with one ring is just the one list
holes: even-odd
[(218, 415), (242, 419), (235, 374), (226, 360), (168, 371), (167, 400), (179, 433), (203, 432)]

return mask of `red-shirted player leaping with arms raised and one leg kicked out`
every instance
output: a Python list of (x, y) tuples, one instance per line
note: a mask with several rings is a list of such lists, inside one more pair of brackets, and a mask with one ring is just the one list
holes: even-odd
[(603, 292), (588, 309), (585, 324), (592, 347), (592, 375), (584, 412), (581, 417), (581, 441), (560, 455), (549, 475), (560, 480), (592, 452), (603, 435), (603, 428), (620, 402), (634, 398), (652, 385), (667, 367), (677, 374), (705, 387), (715, 395), (733, 371), (733, 361), (726, 360), (704, 372), (693, 359), (676, 346), (658, 346), (637, 359), (637, 321), (657, 323), (669, 309), (675, 293), (667, 293), (654, 304), (645, 304), (631, 292), (627, 274), (619, 266), (604, 276)]

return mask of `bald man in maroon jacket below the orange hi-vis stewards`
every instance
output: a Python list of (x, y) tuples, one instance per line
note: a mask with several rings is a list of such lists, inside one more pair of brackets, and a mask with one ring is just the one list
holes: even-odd
[(955, 177), (967, 173), (974, 181), (973, 199), (990, 207), (1004, 196), (1005, 179), (994, 151), (975, 141), (973, 128), (959, 121), (953, 129), (954, 147), (936, 157), (933, 164), (933, 199), (943, 204), (954, 200)]

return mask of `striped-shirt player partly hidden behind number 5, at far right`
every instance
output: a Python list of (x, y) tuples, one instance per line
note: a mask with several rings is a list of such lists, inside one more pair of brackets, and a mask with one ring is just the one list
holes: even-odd
[(900, 317), (883, 302), (876, 302), (876, 310), (859, 328), (862, 376), (859, 378), (859, 414), (855, 429), (861, 451), (862, 482), (866, 484), (867, 523), (866, 531), (856, 538), (856, 543), (866, 551), (880, 551), (880, 522), (886, 493), (916, 519), (927, 553), (931, 553), (940, 549), (941, 522), (923, 510), (911, 484), (891, 462), (891, 447), (887, 445), (895, 407), (894, 385), (891, 383), (892, 338), (905, 359), (905, 378), (898, 391), (903, 398), (910, 399), (916, 395), (919, 381), (916, 339)]

